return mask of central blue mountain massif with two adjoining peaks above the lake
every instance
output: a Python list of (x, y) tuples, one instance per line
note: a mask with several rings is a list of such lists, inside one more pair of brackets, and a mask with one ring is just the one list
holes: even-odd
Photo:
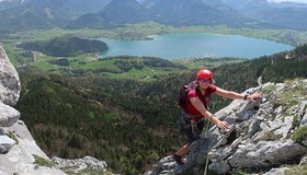
[[(113, 0), (95, 14), (86, 14), (68, 26), (122, 25), (143, 21), (156, 21), (174, 26), (229, 24), (240, 26), (249, 21), (234, 8), (213, 7), (202, 0)], [(89, 16), (99, 20), (90, 20)], [(87, 20), (84, 20), (87, 19)]]

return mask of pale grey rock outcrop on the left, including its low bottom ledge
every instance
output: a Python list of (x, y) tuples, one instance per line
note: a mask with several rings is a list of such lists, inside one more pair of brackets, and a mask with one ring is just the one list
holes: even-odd
[(61, 168), (71, 174), (112, 174), (104, 161), (91, 156), (49, 160), (12, 107), (20, 91), (19, 74), (0, 44), (0, 175), (65, 175)]

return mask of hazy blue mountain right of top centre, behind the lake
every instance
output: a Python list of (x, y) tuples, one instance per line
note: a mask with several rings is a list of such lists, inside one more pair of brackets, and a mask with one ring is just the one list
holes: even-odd
[(238, 26), (247, 21), (235, 9), (218, 9), (203, 0), (147, 0), (145, 4), (151, 4), (151, 20), (174, 26), (226, 23)]

